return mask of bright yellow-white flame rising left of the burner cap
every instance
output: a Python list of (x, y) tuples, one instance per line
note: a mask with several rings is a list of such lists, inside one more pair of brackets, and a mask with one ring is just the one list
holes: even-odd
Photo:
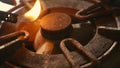
[(24, 17), (33, 22), (39, 17), (40, 12), (41, 12), (40, 1), (36, 0), (34, 6), (24, 14)]

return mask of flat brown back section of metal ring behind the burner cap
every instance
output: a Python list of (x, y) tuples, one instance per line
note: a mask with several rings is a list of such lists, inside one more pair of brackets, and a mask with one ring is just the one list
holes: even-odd
[(93, 3), (90, 3), (86, 0), (41, 0), (43, 10), (55, 7), (67, 7), (74, 9), (84, 9), (88, 6), (91, 6)]

